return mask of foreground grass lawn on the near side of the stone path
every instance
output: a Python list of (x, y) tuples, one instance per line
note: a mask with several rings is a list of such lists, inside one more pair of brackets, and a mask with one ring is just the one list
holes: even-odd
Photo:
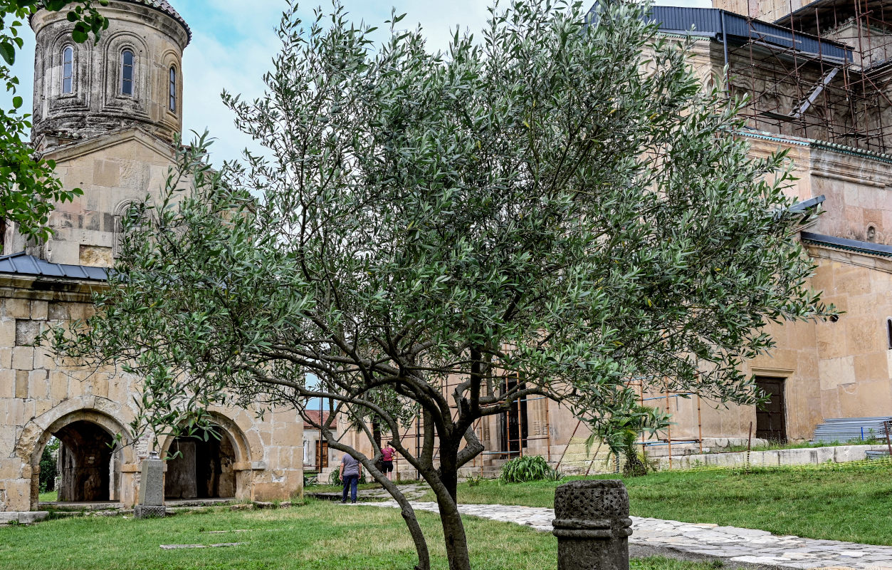
[[(420, 513), (434, 568), (447, 568), (437, 516)], [(524, 526), (468, 517), (478, 570), (557, 568), (557, 540)], [(210, 533), (209, 531), (235, 531)], [(216, 549), (161, 544), (244, 542)], [(3, 570), (409, 569), (415, 549), (399, 511), (309, 501), (280, 510), (186, 513), (163, 520), (81, 517), (0, 528)], [(709, 570), (710, 564), (636, 560), (633, 570)]]

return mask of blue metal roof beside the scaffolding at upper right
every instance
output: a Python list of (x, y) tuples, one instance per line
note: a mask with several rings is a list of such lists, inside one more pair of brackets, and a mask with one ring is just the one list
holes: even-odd
[(836, 59), (840, 63), (852, 61), (852, 48), (845, 44), (718, 8), (652, 6), (648, 21), (657, 22), (664, 32), (704, 34), (739, 44), (754, 41), (764, 46), (793, 48), (800, 54)]

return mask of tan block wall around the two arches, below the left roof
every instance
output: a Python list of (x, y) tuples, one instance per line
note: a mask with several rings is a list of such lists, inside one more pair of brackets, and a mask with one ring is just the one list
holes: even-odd
[[(58, 365), (33, 343), (37, 332), (91, 314), (84, 284), (25, 280), (0, 283), (0, 511), (37, 507), (37, 462), (49, 436), (78, 420), (122, 433), (120, 495), (126, 506), (137, 498), (139, 460), (147, 440), (128, 433), (136, 415), (138, 381), (112, 370), (93, 372)], [(260, 420), (254, 410), (216, 409), (220, 425), (238, 448), (237, 496), (288, 499), (302, 489), (302, 423), (293, 410), (272, 410)]]

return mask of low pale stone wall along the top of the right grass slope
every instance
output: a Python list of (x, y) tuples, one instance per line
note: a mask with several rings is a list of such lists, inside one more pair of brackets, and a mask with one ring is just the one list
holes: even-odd
[[(753, 467), (776, 467), (779, 465), (819, 465), (822, 463), (847, 463), (867, 458), (871, 450), (887, 449), (885, 445), (839, 445), (827, 448), (772, 449), (771, 451), (751, 451), (749, 465)], [(669, 457), (653, 457), (660, 470), (670, 469)], [(694, 469), (697, 467), (745, 467), (747, 452), (704, 453), (672, 458), (672, 469)]]

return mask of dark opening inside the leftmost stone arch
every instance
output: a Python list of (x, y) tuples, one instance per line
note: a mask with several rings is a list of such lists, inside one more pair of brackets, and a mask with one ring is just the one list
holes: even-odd
[(53, 434), (59, 446), (59, 500), (111, 500), (114, 440), (95, 423), (72, 422)]

